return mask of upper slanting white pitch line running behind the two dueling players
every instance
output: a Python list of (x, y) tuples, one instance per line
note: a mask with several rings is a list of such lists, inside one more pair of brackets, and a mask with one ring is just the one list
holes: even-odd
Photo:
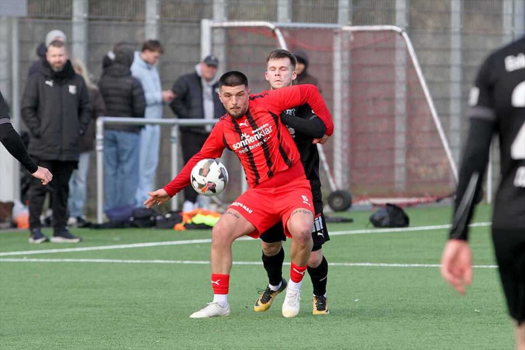
[[(490, 226), (490, 222), (478, 222), (470, 224), (470, 227), (487, 227)], [(413, 231), (434, 231), (449, 229), (451, 225), (432, 225), (432, 226), (418, 226), (418, 227), (407, 227), (407, 228), (394, 228), (394, 229), (366, 229), (366, 230), (351, 230), (351, 231), (335, 231), (330, 232), (331, 236), (338, 235), (349, 235), (349, 234), (370, 234), (370, 233), (390, 233), (390, 232), (413, 232)], [(238, 238), (237, 241), (253, 241), (249, 237)], [(162, 245), (180, 245), (180, 244), (198, 244), (198, 243), (211, 243), (212, 240), (209, 238), (199, 240), (183, 240), (183, 241), (167, 241), (167, 242), (147, 242), (147, 243), (132, 243), (132, 244), (116, 244), (116, 245), (100, 245), (100, 246), (85, 246), (79, 248), (62, 248), (62, 249), (43, 249), (43, 250), (25, 250), (15, 252), (0, 252), (0, 256), (13, 256), (13, 255), (33, 255), (33, 254), (53, 254), (53, 253), (68, 253), (68, 252), (87, 252), (96, 250), (111, 250), (111, 249), (127, 249), (127, 248), (143, 248), (149, 246), (162, 246)]]

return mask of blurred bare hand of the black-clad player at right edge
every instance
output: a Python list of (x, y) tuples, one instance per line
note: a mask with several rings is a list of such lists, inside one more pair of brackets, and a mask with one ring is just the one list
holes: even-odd
[(441, 257), (441, 275), (456, 291), (465, 294), (465, 286), (472, 282), (472, 252), (468, 242), (447, 242)]

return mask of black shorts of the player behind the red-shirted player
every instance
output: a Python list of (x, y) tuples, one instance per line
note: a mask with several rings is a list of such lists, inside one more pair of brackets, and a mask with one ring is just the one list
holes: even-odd
[[(313, 208), (314, 208), (314, 220), (313, 220), (313, 231), (312, 240), (313, 247), (312, 252), (318, 251), (322, 248), (324, 242), (330, 240), (328, 235), (327, 223), (324, 220), (323, 215), (323, 202), (320, 200), (321, 195), (313, 193)], [(317, 199), (317, 200), (316, 200)], [(266, 243), (275, 243), (280, 241), (286, 241), (286, 236), (282, 228), (282, 223), (279, 222), (274, 227), (263, 232), (259, 238)]]

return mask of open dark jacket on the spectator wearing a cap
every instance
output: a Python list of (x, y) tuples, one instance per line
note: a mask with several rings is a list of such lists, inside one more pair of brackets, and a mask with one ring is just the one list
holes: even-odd
[[(175, 80), (171, 88), (177, 95), (170, 104), (173, 113), (178, 118), (203, 119), (204, 106), (202, 98), (202, 81), (196, 72), (183, 75)], [(217, 94), (219, 84), (212, 86), (214, 117), (220, 118), (226, 113)], [(207, 133), (204, 127), (182, 127), (181, 131)]]

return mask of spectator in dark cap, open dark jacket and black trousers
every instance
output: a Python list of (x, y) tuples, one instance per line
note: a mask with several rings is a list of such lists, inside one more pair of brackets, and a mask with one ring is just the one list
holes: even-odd
[[(226, 113), (218, 95), (216, 78), (219, 60), (214, 55), (206, 56), (195, 66), (194, 73), (179, 77), (173, 84), (175, 98), (170, 107), (178, 118), (214, 119)], [(181, 146), (184, 162), (197, 153), (209, 135), (211, 126), (181, 127)], [(197, 192), (191, 186), (184, 189), (183, 211), (196, 208)]]

